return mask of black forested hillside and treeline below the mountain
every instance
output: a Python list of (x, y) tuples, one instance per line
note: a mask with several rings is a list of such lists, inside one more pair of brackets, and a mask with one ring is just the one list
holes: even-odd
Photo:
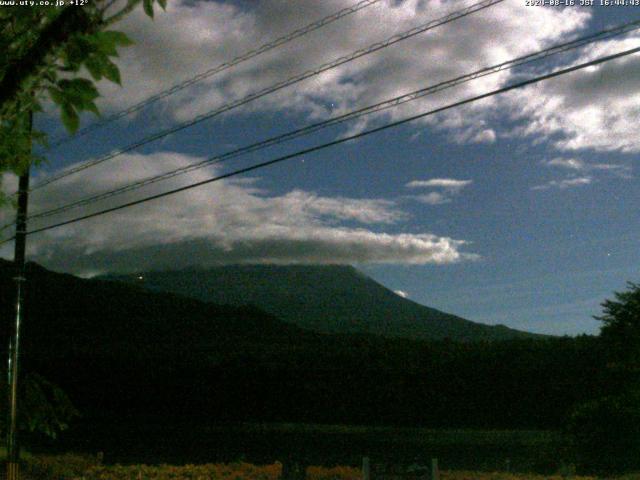
[[(3, 263), (5, 319), (9, 270)], [(557, 429), (577, 403), (615, 381), (596, 337), (428, 343), (324, 335), (249, 307), (29, 271), (24, 369), (60, 385), (85, 423), (124, 416)]]

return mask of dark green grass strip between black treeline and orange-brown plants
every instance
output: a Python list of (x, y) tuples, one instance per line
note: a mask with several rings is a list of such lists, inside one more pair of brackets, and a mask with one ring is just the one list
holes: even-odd
[[(271, 464), (289, 457), (307, 465), (425, 463), (438, 458), (455, 470), (553, 473), (564, 463), (568, 439), (550, 431), (434, 430), (376, 426), (244, 424), (235, 426), (92, 425), (67, 432), (58, 451), (95, 454), (121, 464)], [(65, 436), (68, 440), (65, 440)], [(87, 449), (87, 445), (91, 445)], [(47, 449), (42, 449), (46, 451)], [(50, 450), (49, 450), (50, 451)]]

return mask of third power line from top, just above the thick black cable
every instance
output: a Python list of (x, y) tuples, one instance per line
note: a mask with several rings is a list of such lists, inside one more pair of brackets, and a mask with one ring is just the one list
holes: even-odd
[[(545, 58), (548, 58), (552, 55), (557, 55), (559, 53), (563, 53), (563, 52), (567, 52), (569, 50), (572, 49), (576, 49), (578, 47), (582, 47), (585, 45), (588, 45), (590, 43), (593, 43), (595, 41), (602, 41), (608, 38), (612, 38), (614, 36), (619, 36), (622, 35), (624, 33), (628, 33), (630, 31), (636, 30), (640, 28), (640, 20), (634, 20), (632, 22), (628, 22), (626, 24), (623, 25), (619, 25), (610, 29), (606, 29), (606, 30), (601, 30), (597, 33), (585, 36), (585, 37), (581, 37), (575, 40), (572, 40), (570, 42), (564, 42), (561, 44), (557, 44), (554, 45), (552, 47), (540, 50), (538, 52), (535, 53), (531, 53), (528, 55), (524, 55), (512, 60), (508, 60), (506, 62), (502, 62), (499, 63), (497, 65), (493, 65), (491, 67), (485, 67), (482, 68), (480, 70), (476, 70), (472, 73), (469, 74), (465, 74), (462, 76), (458, 76), (456, 78), (450, 79), (450, 80), (446, 80), (444, 82), (440, 82), (436, 85), (432, 85), (426, 88), (422, 88), (419, 90), (415, 90), (413, 92), (410, 93), (406, 93), (397, 97), (394, 97), (392, 99), (388, 99), (388, 100), (384, 100), (382, 102), (376, 103), (374, 105), (369, 105), (367, 107), (363, 107), (348, 113), (345, 113), (343, 115), (337, 116), (337, 117), (333, 117), (330, 118), (328, 120), (322, 121), (322, 122), (318, 122), (312, 125), (308, 125), (306, 127), (297, 129), (297, 130), (293, 130), (291, 132), (287, 132), (275, 137), (271, 137), (269, 139), (257, 142), (257, 143), (253, 143), (251, 145), (247, 145), (245, 147), (241, 147), (220, 155), (217, 155), (215, 157), (211, 157), (208, 158), (206, 160), (202, 160), (200, 162), (191, 164), (191, 165), (187, 165), (185, 167), (180, 167), (174, 170), (171, 170), (169, 172), (165, 172), (159, 175), (155, 175), (137, 182), (133, 182), (130, 183), (128, 185), (124, 185), (122, 187), (118, 187), (116, 189), (107, 191), (107, 192), (103, 192), (103, 193), (99, 193), (96, 195), (92, 195), (92, 196), (88, 196), (73, 202), (70, 202), (68, 204), (62, 205), (60, 207), (56, 207), (50, 210), (45, 210), (39, 213), (36, 213), (34, 215), (31, 215), (29, 217), (30, 220), (33, 219), (37, 219), (37, 218), (45, 218), (45, 217), (49, 217), (52, 215), (56, 215), (59, 213), (63, 213), (65, 211), (69, 211), (84, 205), (88, 205), (91, 203), (95, 203), (97, 201), (100, 200), (104, 200), (106, 198), (110, 198), (116, 195), (120, 195), (126, 192), (130, 192), (133, 190), (137, 190), (139, 188), (142, 188), (144, 186), (147, 185), (151, 185), (154, 183), (157, 183), (159, 181), (163, 181), (163, 180), (167, 180), (169, 178), (173, 178), (175, 176), (178, 175), (182, 175), (212, 164), (216, 164), (216, 163), (220, 163), (226, 160), (230, 160), (232, 158), (237, 158), (239, 156), (248, 154), (248, 153), (252, 153), (258, 150), (262, 150), (263, 148), (267, 148), (273, 145), (277, 145), (280, 143), (284, 143), (286, 141), (292, 140), (294, 138), (298, 138), (301, 136), (305, 136), (305, 135), (309, 135), (311, 133), (315, 133), (321, 129), (330, 127), (330, 126), (334, 126), (334, 125), (338, 125), (356, 118), (360, 118), (363, 117), (365, 115), (369, 115), (372, 113), (376, 113), (376, 112), (381, 112), (390, 108), (394, 108), (397, 107), (398, 105), (402, 105), (404, 103), (408, 103), (414, 100), (418, 100), (420, 98), (423, 98), (427, 95), (431, 95), (440, 91), (443, 91), (445, 89), (448, 88), (452, 88), (454, 86), (460, 85), (462, 83), (465, 82), (469, 82), (471, 80), (475, 80), (477, 78), (481, 78), (487, 75), (491, 75), (500, 71), (505, 71), (508, 69), (512, 69), (518, 66), (522, 66), (528, 63), (532, 63), (535, 61), (539, 61)], [(3, 229), (12, 226), (12, 224), (7, 224), (4, 227), (0, 228), (0, 231), (2, 231)]]

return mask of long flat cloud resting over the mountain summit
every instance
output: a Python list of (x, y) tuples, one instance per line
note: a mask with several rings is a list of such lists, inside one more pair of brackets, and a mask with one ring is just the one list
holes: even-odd
[[(100, 165), (32, 195), (33, 213), (114, 188), (199, 158), (177, 153), (130, 154), (127, 168)], [(137, 193), (110, 199), (90, 213), (157, 191), (215, 175), (197, 170)], [(11, 179), (8, 180), (11, 182)], [(70, 194), (73, 192), (73, 195)], [(32, 220), (30, 228), (77, 215)], [(324, 197), (293, 190), (269, 195), (254, 179), (226, 180), (29, 237), (29, 258), (49, 268), (80, 274), (131, 272), (225, 263), (443, 264), (475, 258), (464, 241), (430, 233), (380, 230), (408, 218), (394, 201)], [(0, 213), (3, 222), (10, 212)], [(0, 252), (10, 255), (4, 246)]]

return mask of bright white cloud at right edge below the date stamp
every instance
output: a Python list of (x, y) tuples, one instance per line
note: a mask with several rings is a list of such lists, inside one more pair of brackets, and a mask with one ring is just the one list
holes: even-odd
[[(640, 35), (586, 48), (575, 63), (634, 48)], [(549, 140), (563, 151), (640, 152), (640, 55), (634, 54), (512, 92), (503, 98), (517, 134)]]

